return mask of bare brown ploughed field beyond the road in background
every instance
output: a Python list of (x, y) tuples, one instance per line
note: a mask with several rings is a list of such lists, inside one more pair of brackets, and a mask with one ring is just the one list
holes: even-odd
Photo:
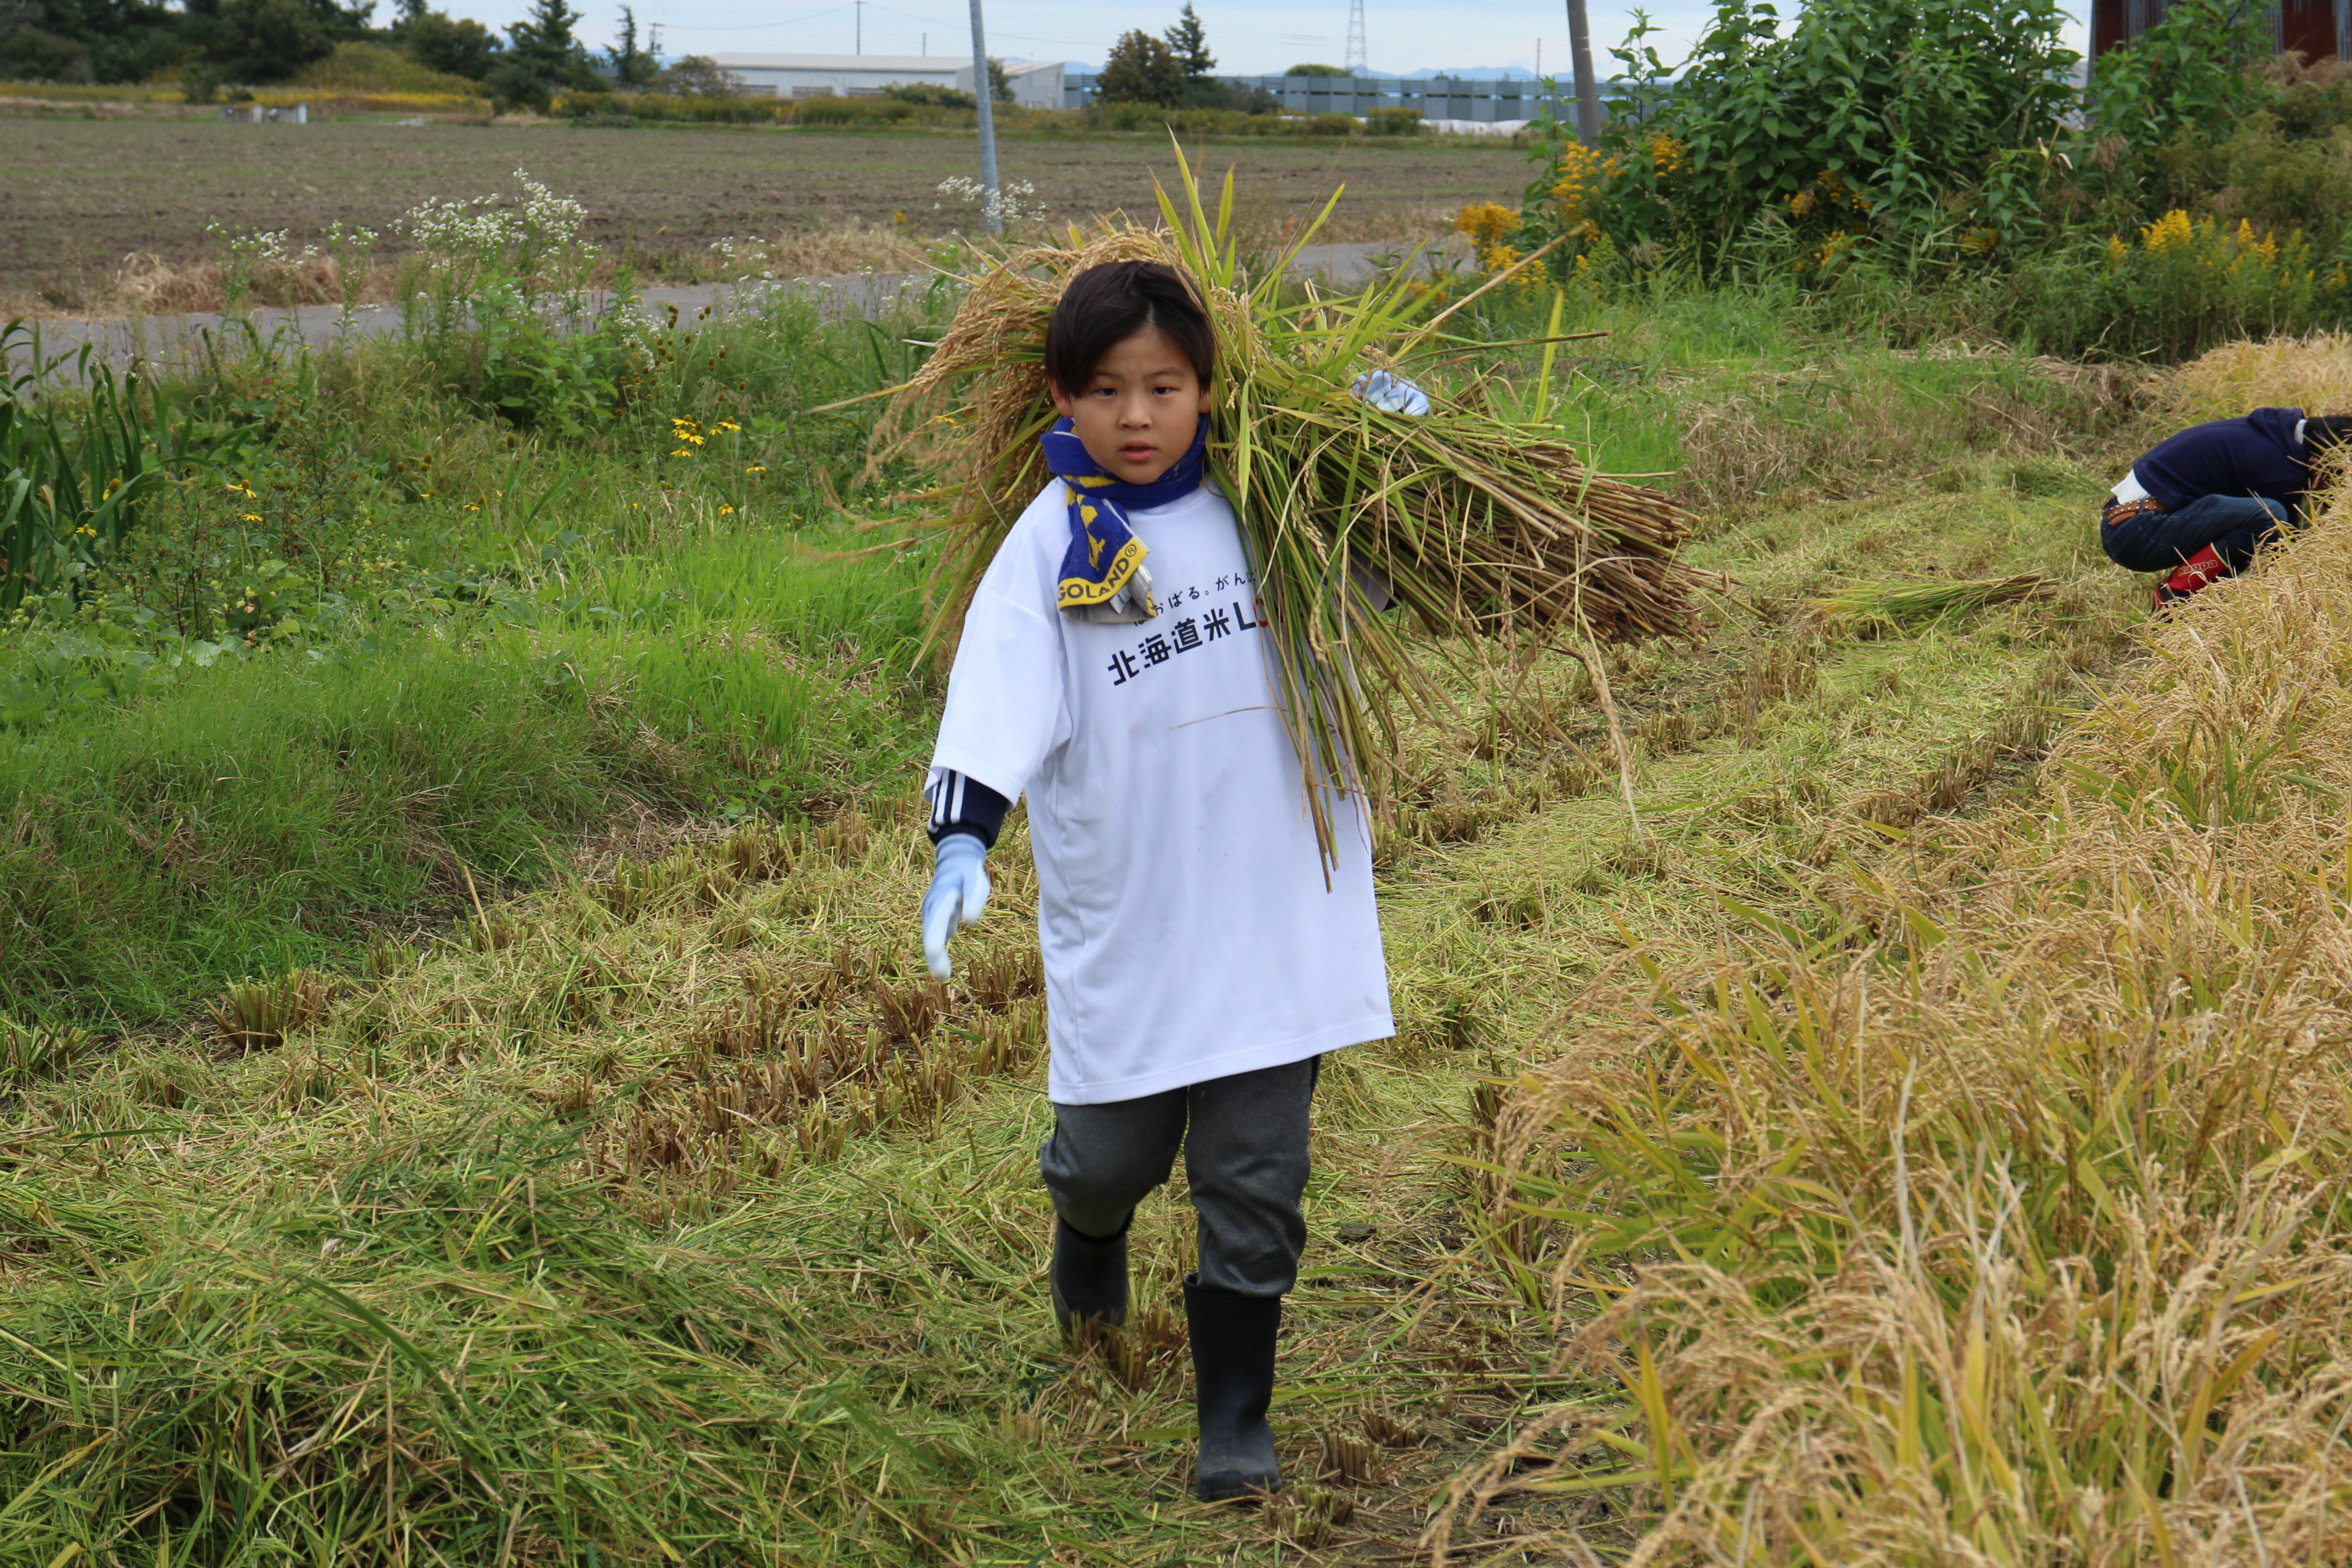
[[(1470, 200), (1515, 200), (1524, 155), (1456, 141), (1237, 143), (1249, 216), (1310, 216), (1345, 181), (1334, 240), (1416, 237)], [(428, 197), (513, 190), (529, 169), (576, 193), (604, 244), (696, 256), (722, 235), (804, 233), (844, 221), (946, 233), (969, 207), (938, 181), (976, 174), (969, 134), (673, 132), (414, 125), (388, 120), (254, 127), (214, 120), (0, 120), (0, 296), (47, 308), (94, 303), (132, 252), (167, 263), (207, 254), (205, 226), (285, 228), (296, 244), (336, 221), (388, 235)], [(1007, 181), (1030, 181), (1049, 221), (1150, 212), (1167, 146), (1007, 141)], [(687, 268), (691, 270), (691, 268)]]

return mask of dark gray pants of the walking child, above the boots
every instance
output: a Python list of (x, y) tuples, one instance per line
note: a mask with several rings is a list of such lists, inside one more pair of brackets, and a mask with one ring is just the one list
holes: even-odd
[(1089, 1237), (1112, 1237), (1183, 1147), (1200, 1213), (1200, 1281), (1240, 1295), (1298, 1284), (1308, 1220), (1308, 1103), (1322, 1058), (1235, 1072), (1141, 1100), (1056, 1105), (1037, 1152), (1054, 1213)]

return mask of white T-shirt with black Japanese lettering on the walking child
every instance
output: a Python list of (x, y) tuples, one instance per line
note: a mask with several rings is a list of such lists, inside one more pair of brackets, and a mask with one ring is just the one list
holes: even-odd
[(1232, 508), (1202, 487), (1131, 522), (1162, 611), (1089, 625), (1056, 609), (1063, 484), (1021, 512), (964, 616), (931, 757), (1030, 797), (1063, 1105), (1395, 1034), (1364, 818), (1334, 802), (1324, 886)]

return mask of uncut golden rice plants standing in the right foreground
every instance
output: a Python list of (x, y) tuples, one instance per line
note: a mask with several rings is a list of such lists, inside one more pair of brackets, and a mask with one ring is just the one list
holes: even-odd
[(2352, 1552), (2347, 574), (2338, 501), (2032, 799), (1578, 1006), (1498, 1117), (1491, 1248), (1623, 1399), (1442, 1535), (1616, 1490), (1635, 1561)]

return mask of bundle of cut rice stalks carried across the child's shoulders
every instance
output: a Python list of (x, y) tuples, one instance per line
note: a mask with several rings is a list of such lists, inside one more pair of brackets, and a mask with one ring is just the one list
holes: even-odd
[[(1037, 437), (1056, 414), (1044, 329), (1063, 284), (1131, 259), (1183, 270), (1216, 322), (1209, 468), (1242, 520), (1275, 691), (1327, 844), (1327, 788), (1352, 780), (1385, 804), (1392, 698), (1442, 710), (1404, 621), (1355, 583), (1383, 581), (1421, 625), (1477, 649), (1696, 628), (1696, 578), (1675, 562), (1686, 515), (1656, 489), (1595, 473), (1543, 416), (1543, 388), (1536, 423), (1503, 418), (1479, 388), (1423, 418), (1350, 395), (1362, 371), (1411, 374), (1421, 355), (1461, 353), (1463, 341), (1439, 327), (1475, 294), (1418, 327), (1423, 294), (1402, 275), (1355, 296), (1301, 299), (1284, 277), (1322, 216), (1249, 277), (1232, 237), (1232, 176), (1214, 219), (1190, 167), (1183, 197), (1178, 212), (1160, 193), (1164, 230), (1108, 228), (1094, 240), (1073, 230), (1068, 247), (1009, 256), (974, 284), (922, 374), (896, 388), (877, 449), (917, 449), (948, 470), (929, 496), (943, 536), (936, 642), (953, 639), (990, 557), (1047, 482)], [(1555, 308), (1541, 339), (1545, 381), (1557, 341)]]

